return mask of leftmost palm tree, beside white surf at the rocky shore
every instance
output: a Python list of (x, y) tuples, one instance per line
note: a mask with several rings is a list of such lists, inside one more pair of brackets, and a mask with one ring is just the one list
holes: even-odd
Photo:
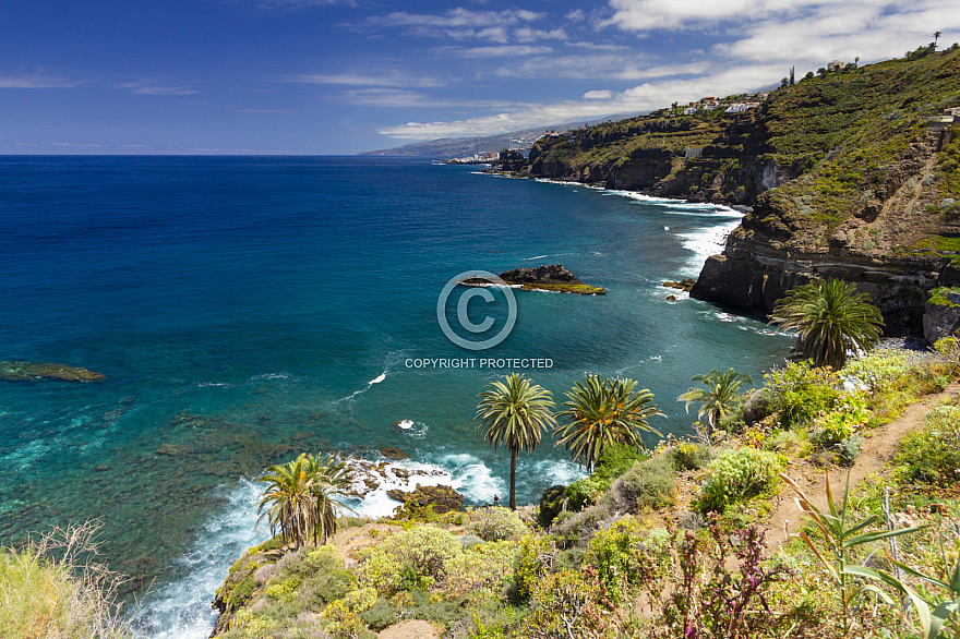
[[(311, 491), (308, 471), (310, 462), (305, 454), (293, 461), (271, 466), (257, 481), (267, 484), (256, 505), (260, 513), (257, 525), (267, 517), (271, 534), (280, 534), (288, 543), (300, 547), (314, 527), (315, 498)], [(269, 508), (264, 511), (264, 508)]]

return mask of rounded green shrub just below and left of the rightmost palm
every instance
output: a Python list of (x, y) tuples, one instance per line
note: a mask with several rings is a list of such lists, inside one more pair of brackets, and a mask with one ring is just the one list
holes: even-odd
[(809, 362), (795, 362), (764, 376), (770, 389), (768, 408), (779, 415), (783, 427), (809, 423), (820, 412), (833, 408), (840, 396), (840, 378), (832, 370), (815, 369)]

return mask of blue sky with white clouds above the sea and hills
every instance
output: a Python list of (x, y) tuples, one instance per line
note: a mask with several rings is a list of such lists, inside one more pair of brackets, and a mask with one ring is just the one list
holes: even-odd
[(4, 0), (0, 154), (351, 154), (960, 40), (957, 0)]

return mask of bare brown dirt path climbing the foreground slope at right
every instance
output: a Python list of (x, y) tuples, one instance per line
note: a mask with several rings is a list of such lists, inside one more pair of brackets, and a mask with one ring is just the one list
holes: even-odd
[[(932, 408), (944, 400), (956, 398), (958, 393), (960, 393), (960, 384), (950, 384), (943, 393), (927, 395), (916, 403), (909, 406), (903, 411), (903, 414), (889, 424), (867, 433), (861, 454), (850, 470), (850, 486), (856, 486), (867, 475), (881, 470), (893, 457), (897, 444), (901, 437), (910, 431), (915, 431), (923, 426), (926, 413)], [(814, 506), (821, 510), (827, 509), (827, 492), (821, 469), (814, 467), (805, 460), (800, 460), (787, 467), (783, 473), (800, 485)], [(830, 486), (833, 491), (835, 499), (839, 501), (842, 498), (845, 481), (845, 471), (831, 473)], [(768, 523), (770, 531), (767, 533), (767, 543), (771, 552), (776, 551), (787, 541), (785, 531), (788, 529), (791, 533), (796, 533), (800, 529), (800, 522), (803, 517), (793, 502), (794, 496), (795, 493), (790, 486), (783, 486), (780, 491), (779, 507)]]

